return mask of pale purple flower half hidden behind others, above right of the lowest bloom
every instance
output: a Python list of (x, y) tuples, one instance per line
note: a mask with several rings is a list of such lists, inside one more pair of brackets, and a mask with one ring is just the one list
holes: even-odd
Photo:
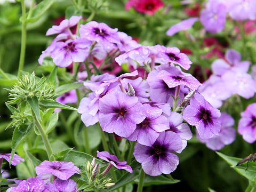
[(182, 140), (182, 148), (177, 151), (177, 153), (181, 153), (181, 151), (187, 147), (187, 140), (191, 139), (193, 134), (190, 131), (188, 124), (183, 123), (183, 118), (181, 114), (172, 111), (168, 119), (170, 124), (170, 130), (167, 131), (177, 133), (178, 135), (180, 135), (180, 138)]

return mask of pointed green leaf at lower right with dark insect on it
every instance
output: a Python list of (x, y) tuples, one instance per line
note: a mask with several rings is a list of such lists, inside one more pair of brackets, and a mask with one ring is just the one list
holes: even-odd
[[(242, 165), (236, 166), (237, 162), (241, 161), (241, 158), (236, 158), (236, 157), (230, 157), (227, 155), (224, 155), (220, 152), (216, 153), (223, 158), (229, 165), (232, 166), (233, 169), (235, 169), (235, 171), (241, 175), (243, 175), (245, 178), (249, 179), (252, 182), (256, 181), (256, 163), (255, 162), (250, 162), (249, 163), (249, 167), (247, 168), (247, 164), (244, 163)], [(234, 167), (233, 167), (234, 166)]]

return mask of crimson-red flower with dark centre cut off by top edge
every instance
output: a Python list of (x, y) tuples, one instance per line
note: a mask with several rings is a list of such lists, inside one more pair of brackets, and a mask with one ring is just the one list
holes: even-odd
[(133, 7), (140, 13), (153, 15), (158, 9), (164, 6), (161, 0), (130, 0), (125, 4), (125, 10)]

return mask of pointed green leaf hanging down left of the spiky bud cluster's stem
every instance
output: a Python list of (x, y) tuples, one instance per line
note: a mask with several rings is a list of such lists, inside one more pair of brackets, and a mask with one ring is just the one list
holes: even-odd
[(34, 127), (34, 123), (30, 123), (28, 125), (25, 124), (19, 128), (15, 127), (15, 129), (13, 131), (13, 135), (12, 135), (12, 153), (11, 153), (10, 163), (9, 163), (10, 166), (11, 166), (11, 161), (12, 161), (15, 151), (17, 150), (19, 145), (22, 143), (22, 141), (24, 141), (26, 139), (26, 136), (28, 135), (31, 128), (33, 128), (33, 127)]

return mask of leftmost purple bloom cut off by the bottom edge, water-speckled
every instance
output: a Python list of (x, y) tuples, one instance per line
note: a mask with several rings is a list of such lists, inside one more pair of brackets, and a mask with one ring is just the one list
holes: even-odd
[(17, 187), (9, 188), (9, 192), (42, 192), (44, 191), (44, 180), (37, 177), (31, 177), (21, 181)]

